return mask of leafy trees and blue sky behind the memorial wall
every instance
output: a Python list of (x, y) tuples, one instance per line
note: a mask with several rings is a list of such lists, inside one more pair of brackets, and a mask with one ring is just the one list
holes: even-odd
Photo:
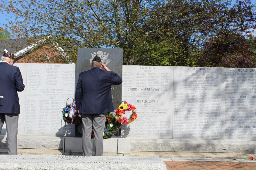
[(123, 48), (125, 65), (256, 67), (251, 0), (2, 1), (23, 19), (9, 29), (52, 35), (74, 62), (88, 47)]

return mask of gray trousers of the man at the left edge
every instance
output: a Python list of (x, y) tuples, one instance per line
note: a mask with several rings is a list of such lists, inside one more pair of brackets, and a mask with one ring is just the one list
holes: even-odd
[(18, 120), (19, 114), (0, 114), (0, 133), (5, 121), (9, 155), (17, 155)]

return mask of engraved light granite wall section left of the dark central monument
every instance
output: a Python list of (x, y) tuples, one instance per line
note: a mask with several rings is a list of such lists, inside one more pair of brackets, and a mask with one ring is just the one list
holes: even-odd
[[(75, 64), (15, 63), (25, 89), (18, 92), (20, 115), (18, 135), (63, 136), (61, 110), (75, 93)], [(72, 102), (72, 100), (68, 100)], [(5, 126), (5, 125), (4, 125)], [(66, 126), (66, 135), (75, 135), (75, 126)], [(6, 133), (3, 127), (1, 135)]]

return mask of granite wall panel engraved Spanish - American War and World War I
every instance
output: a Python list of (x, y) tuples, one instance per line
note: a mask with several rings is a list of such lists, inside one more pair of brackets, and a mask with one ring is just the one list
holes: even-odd
[(123, 66), (122, 101), (135, 105), (138, 117), (122, 128), (122, 137), (172, 138), (172, 72), (172, 67)]

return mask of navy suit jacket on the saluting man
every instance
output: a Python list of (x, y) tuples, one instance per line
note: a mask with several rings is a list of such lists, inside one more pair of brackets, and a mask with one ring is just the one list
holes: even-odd
[(76, 85), (76, 110), (80, 114), (113, 112), (111, 85), (120, 85), (122, 78), (113, 71), (93, 67), (81, 72)]

